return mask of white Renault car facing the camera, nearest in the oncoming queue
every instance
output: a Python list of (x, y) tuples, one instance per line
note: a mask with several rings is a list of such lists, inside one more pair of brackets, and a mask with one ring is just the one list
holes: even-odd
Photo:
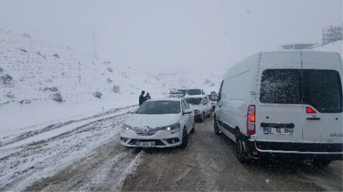
[(149, 99), (132, 113), (121, 128), (126, 147), (186, 147), (195, 132), (194, 112), (183, 98)]

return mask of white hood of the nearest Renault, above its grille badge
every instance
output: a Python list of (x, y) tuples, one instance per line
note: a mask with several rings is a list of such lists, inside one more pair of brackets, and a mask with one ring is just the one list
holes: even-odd
[(125, 124), (132, 127), (163, 127), (175, 124), (181, 118), (178, 114), (132, 114)]

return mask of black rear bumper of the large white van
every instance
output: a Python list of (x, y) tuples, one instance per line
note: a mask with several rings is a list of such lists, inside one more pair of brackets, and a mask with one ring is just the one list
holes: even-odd
[(343, 160), (343, 143), (278, 142), (247, 139), (246, 151), (250, 157), (256, 159)]

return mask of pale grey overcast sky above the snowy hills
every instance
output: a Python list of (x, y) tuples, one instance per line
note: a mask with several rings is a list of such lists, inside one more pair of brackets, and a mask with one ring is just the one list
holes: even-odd
[(0, 0), (0, 28), (148, 73), (228, 68), (258, 51), (321, 43), (342, 0)]

